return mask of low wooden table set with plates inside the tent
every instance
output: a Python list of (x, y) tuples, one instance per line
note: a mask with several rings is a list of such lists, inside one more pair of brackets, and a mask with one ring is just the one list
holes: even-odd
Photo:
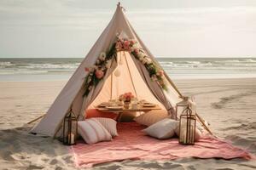
[(102, 112), (113, 112), (118, 114), (117, 121), (120, 122), (121, 116), (124, 112), (148, 112), (148, 111), (154, 111), (154, 110), (161, 110), (159, 105), (155, 105), (154, 107), (144, 107), (142, 105), (137, 105), (137, 108), (125, 108), (122, 107), (120, 109), (111, 109), (111, 108), (105, 108), (105, 107), (96, 107), (96, 110), (102, 111)]

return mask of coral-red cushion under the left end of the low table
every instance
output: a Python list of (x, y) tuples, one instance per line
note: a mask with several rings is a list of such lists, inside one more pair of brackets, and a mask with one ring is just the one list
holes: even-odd
[(88, 109), (85, 111), (85, 118), (91, 118), (91, 117), (105, 117), (105, 118), (110, 118), (113, 120), (117, 119), (118, 114), (115, 114), (113, 112), (102, 112), (98, 111), (96, 109)]

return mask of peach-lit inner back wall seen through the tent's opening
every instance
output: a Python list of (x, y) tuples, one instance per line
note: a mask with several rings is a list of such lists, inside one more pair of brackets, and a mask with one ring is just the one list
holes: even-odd
[(154, 94), (151, 93), (147, 84), (143, 81), (131, 57), (131, 54), (127, 51), (117, 53), (117, 67), (104, 82), (102, 90), (88, 109), (95, 108), (96, 105), (111, 99), (119, 99), (119, 95), (131, 92), (138, 100), (145, 99), (148, 102), (160, 105), (165, 110), (165, 107), (154, 97)]

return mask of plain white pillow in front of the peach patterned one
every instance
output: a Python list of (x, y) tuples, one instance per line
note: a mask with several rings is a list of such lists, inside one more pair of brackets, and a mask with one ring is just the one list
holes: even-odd
[(169, 139), (175, 134), (177, 126), (178, 121), (166, 118), (143, 129), (143, 132), (157, 139)]

